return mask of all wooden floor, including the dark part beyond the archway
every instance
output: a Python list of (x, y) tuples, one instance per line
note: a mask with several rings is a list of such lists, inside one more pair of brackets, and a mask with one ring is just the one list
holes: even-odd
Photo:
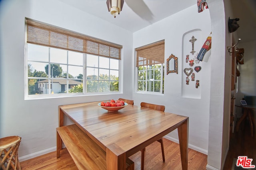
[[(160, 143), (155, 142), (146, 147), (145, 170), (181, 170), (179, 145), (164, 139), (165, 162), (162, 162)], [(252, 158), (252, 164), (256, 165), (256, 133), (250, 136), (249, 123), (244, 121), (238, 132), (232, 133), (230, 138), (230, 150), (226, 157), (224, 170), (231, 170), (234, 158), (248, 156)], [(140, 152), (130, 157), (135, 163), (135, 169), (140, 170)], [(60, 158), (56, 158), (56, 152), (51, 152), (20, 163), (23, 170), (77, 170), (72, 158), (66, 149), (61, 150)], [(205, 170), (207, 155), (188, 149), (188, 169)]]

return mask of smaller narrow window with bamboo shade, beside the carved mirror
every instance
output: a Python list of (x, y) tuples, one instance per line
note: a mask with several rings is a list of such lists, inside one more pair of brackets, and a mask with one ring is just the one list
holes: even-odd
[(137, 91), (164, 93), (164, 41), (136, 49)]

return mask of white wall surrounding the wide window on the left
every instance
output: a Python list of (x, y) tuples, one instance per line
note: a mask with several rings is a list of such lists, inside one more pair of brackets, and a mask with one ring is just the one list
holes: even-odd
[[(56, 0), (5, 0), (0, 7), (0, 137), (22, 137), (20, 161), (55, 151), (59, 105), (132, 98), (130, 31), (113, 31), (115, 25)], [(124, 94), (24, 100), (25, 17), (123, 45), (121, 69), (125, 80), (120, 81), (124, 81)]]

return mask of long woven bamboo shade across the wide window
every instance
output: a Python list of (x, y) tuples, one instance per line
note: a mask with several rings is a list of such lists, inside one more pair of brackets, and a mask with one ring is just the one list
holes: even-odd
[(27, 43), (121, 59), (122, 45), (26, 18)]

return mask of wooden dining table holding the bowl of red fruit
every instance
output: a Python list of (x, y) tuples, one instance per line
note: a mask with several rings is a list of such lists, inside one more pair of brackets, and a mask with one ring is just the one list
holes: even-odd
[(188, 169), (188, 117), (128, 105), (110, 113), (100, 102), (59, 106), (59, 127), (64, 115), (106, 151), (108, 170), (125, 169), (126, 158), (178, 128), (182, 169)]

